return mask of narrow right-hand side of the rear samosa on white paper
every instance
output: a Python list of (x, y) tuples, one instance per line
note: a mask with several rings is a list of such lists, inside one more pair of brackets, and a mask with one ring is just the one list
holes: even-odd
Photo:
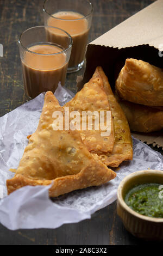
[[(108, 166), (118, 167), (123, 161), (133, 159), (133, 145), (131, 141), (130, 129), (126, 116), (112, 93), (108, 78), (103, 69), (98, 66), (96, 69), (101, 76), (104, 90), (108, 96), (109, 105), (112, 111), (115, 130), (115, 142), (112, 153), (98, 154), (99, 159)], [(92, 151), (92, 153), (95, 153)]]

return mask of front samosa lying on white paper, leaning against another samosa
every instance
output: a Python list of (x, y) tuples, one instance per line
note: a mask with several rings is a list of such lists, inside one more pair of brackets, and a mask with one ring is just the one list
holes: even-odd
[(116, 174), (84, 145), (78, 131), (53, 130), (54, 111), (62, 113), (52, 92), (45, 95), (37, 130), (29, 138), (14, 178), (7, 180), (8, 193), (27, 185), (49, 185), (49, 196), (114, 179)]

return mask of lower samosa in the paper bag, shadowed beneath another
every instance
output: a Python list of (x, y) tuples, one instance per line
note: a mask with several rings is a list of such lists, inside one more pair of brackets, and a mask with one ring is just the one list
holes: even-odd
[(116, 98), (132, 131), (153, 132), (163, 129), (163, 109), (121, 100), (118, 96)]

